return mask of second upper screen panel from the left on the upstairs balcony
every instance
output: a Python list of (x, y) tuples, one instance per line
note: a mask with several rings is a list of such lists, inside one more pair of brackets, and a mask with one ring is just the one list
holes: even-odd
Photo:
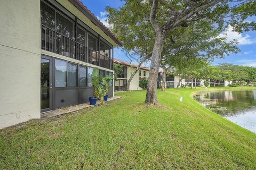
[(56, 12), (55, 30), (61, 35), (75, 39), (75, 24)]

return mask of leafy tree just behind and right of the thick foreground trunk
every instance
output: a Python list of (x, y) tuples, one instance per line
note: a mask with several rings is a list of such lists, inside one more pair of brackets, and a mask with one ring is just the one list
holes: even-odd
[[(213, 23), (209, 20), (195, 22), (189, 27), (177, 29), (173, 31), (172, 35), (167, 36), (161, 58), (161, 67), (164, 72), (162, 91), (165, 87), (165, 73), (170, 68), (172, 70), (181, 67), (182, 70), (186, 69), (183, 65), (187, 64), (187, 58), (203, 58), (206, 61), (211, 61), (213, 58), (223, 58), (229, 53), (238, 52), (237, 42), (227, 43), (226, 37), (219, 37), (221, 29), (216, 29)], [(197, 78), (199, 76), (200, 74)]]

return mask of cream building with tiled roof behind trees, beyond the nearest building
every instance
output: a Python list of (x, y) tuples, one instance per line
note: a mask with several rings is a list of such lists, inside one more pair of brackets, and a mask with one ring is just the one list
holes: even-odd
[[(117, 80), (115, 81), (115, 91), (126, 91), (127, 81), (130, 79), (132, 73), (138, 67), (138, 64), (118, 59), (114, 59), (114, 63), (123, 65), (123, 71), (121, 74), (117, 75)], [(159, 71), (159, 73), (162, 73), (162, 71)], [(140, 80), (144, 77), (148, 78), (148, 75), (149, 67), (140, 66), (139, 71), (134, 75), (132, 81), (130, 82), (130, 90), (142, 90)]]

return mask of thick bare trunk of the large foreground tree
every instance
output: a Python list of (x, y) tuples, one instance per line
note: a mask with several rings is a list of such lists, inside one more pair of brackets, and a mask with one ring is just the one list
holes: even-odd
[(157, 88), (157, 77), (159, 72), (159, 65), (161, 61), (161, 54), (163, 50), (165, 39), (165, 32), (156, 32), (156, 39), (151, 57), (151, 65), (148, 77), (147, 95), (145, 102), (148, 104), (157, 104), (156, 88)]

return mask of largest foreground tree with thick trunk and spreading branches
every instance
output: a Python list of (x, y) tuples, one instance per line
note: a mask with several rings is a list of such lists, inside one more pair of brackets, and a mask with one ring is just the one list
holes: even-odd
[[(118, 13), (119, 16), (125, 18), (127, 21), (125, 24), (121, 24), (121, 26), (134, 30), (134, 28), (137, 28), (137, 25), (143, 24), (145, 28), (149, 28), (147, 30), (150, 30), (150, 35), (154, 36), (153, 41), (151, 41), (154, 43), (154, 47), (150, 58), (151, 66), (146, 95), (147, 103), (157, 104), (157, 74), (163, 56), (162, 50), (166, 37), (172, 35), (172, 33), (179, 28), (188, 27), (193, 22), (211, 20), (215, 22), (215, 25), (223, 26), (225, 18), (227, 18), (230, 12), (235, 13), (235, 9), (239, 7), (239, 5), (230, 7), (229, 2), (232, 1), (126, 0), (124, 6), (117, 10), (120, 12)], [(247, 3), (248, 1), (238, 0), (238, 2)], [(238, 13), (241, 12), (238, 11)], [(115, 22), (115, 18), (112, 20)], [(241, 22), (242, 20), (243, 19), (239, 19), (238, 21)], [(232, 20), (234, 25), (236, 24), (235, 21), (235, 19)], [(132, 26), (130, 23), (132, 23)], [(230, 23), (231, 21), (228, 24)], [(114, 24), (118, 25), (119, 21), (117, 20)], [(116, 27), (116, 29), (118, 29), (118, 27)], [(151, 29), (153, 30), (152, 34)], [(127, 34), (130, 32), (131, 31), (128, 31)], [(148, 39), (151, 40), (151, 37), (145, 38), (145, 40)]]

